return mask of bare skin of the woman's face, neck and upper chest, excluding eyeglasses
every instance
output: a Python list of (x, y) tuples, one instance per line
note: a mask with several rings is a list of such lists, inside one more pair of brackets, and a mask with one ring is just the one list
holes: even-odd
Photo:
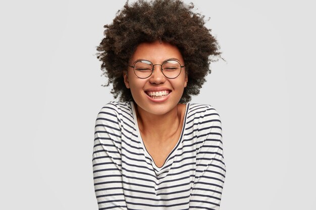
[[(155, 41), (140, 44), (131, 62), (146, 59), (157, 64), (170, 58), (184, 64), (181, 52), (175, 45)], [(188, 82), (185, 67), (174, 79), (165, 77), (159, 65), (155, 65), (148, 78), (138, 78), (133, 67), (129, 67), (123, 77), (126, 87), (133, 94), (138, 127), (145, 148), (156, 166), (162, 167), (178, 143), (183, 127), (186, 105), (179, 104), (179, 100)], [(149, 93), (162, 95), (150, 97)]]

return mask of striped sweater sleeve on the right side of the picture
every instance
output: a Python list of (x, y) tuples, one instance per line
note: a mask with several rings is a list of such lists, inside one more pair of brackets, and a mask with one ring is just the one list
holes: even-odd
[(200, 123), (197, 142), (196, 174), (190, 197), (190, 210), (219, 210), (224, 186), (226, 167), (223, 156), (222, 125), (220, 115), (209, 107)]

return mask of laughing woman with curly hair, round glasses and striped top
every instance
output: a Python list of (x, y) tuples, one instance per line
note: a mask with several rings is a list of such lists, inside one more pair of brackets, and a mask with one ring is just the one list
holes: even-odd
[[(220, 116), (188, 103), (218, 44), (193, 5), (126, 3), (97, 47), (114, 97), (95, 125), (99, 209), (219, 209), (225, 179)], [(109, 85), (108, 84), (108, 85)]]

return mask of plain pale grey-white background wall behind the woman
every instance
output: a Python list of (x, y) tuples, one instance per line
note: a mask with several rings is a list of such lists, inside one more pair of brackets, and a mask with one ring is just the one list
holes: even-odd
[[(226, 60), (192, 99), (221, 115), (221, 210), (315, 209), (312, 1), (193, 2)], [(94, 122), (113, 98), (95, 48), (124, 3), (0, 3), (1, 209), (97, 209)]]

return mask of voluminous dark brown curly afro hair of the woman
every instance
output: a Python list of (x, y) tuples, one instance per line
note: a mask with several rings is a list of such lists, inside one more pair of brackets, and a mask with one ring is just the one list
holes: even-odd
[[(126, 2), (113, 23), (104, 25), (104, 38), (97, 46), (97, 58), (102, 62), (106, 86), (113, 84), (111, 93), (120, 101), (132, 101), (130, 89), (124, 84), (123, 71), (142, 42), (164, 41), (176, 45), (182, 53), (188, 84), (180, 103), (198, 95), (205, 77), (210, 74), (209, 63), (220, 56), (216, 38), (210, 34), (204, 16), (193, 12), (194, 5), (180, 0), (139, 0)], [(211, 59), (211, 57), (213, 57)]]

